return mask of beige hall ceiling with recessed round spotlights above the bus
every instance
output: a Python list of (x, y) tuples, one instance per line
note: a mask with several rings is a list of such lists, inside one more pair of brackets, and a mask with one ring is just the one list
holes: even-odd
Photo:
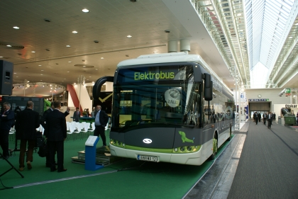
[(231, 63), (223, 59), (196, 10), (210, 2), (2, 0), (0, 59), (13, 62), (15, 84), (27, 80), (66, 86), (81, 75), (86, 82), (114, 76), (118, 62), (165, 53), (168, 41), (187, 38), (189, 54), (201, 55), (235, 89)]

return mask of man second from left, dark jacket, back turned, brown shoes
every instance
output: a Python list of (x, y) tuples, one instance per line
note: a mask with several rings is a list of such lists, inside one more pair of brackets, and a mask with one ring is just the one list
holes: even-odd
[(21, 110), (16, 118), (16, 131), (18, 132), (18, 139), (21, 139), (20, 157), (18, 162), (20, 164), (20, 171), (24, 170), (25, 152), (28, 142), (27, 152), (27, 168), (32, 169), (31, 161), (33, 161), (33, 149), (36, 143), (36, 128), (39, 127), (39, 114), (33, 110), (34, 103), (28, 101), (25, 110)]

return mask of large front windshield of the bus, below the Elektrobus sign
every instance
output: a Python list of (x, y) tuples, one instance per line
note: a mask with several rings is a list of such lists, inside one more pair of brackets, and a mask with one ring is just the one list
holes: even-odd
[(113, 126), (198, 126), (199, 111), (202, 110), (199, 107), (202, 104), (199, 103), (202, 101), (201, 83), (194, 82), (191, 73), (181, 76), (177, 80), (131, 81), (114, 85)]

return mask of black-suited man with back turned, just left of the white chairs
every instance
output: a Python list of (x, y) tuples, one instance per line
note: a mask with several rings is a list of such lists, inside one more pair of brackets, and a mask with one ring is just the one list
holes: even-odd
[[(60, 101), (54, 101), (54, 110), (45, 118), (45, 139), (48, 140), (50, 151), (50, 171), (63, 172), (64, 141), (67, 137), (65, 115), (60, 112)], [(55, 167), (55, 152), (57, 152), (57, 168)]]

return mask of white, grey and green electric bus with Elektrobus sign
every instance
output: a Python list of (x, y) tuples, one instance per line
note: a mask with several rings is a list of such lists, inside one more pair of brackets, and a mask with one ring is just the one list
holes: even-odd
[(142, 55), (120, 62), (113, 81), (111, 155), (201, 165), (231, 139), (233, 96), (199, 55)]

